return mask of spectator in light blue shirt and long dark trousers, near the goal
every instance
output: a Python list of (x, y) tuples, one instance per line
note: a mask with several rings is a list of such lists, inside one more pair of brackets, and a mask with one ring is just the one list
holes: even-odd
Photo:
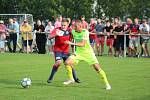
[[(8, 32), (9, 32), (8, 49), (10, 52), (15, 53), (17, 45), (17, 30), (15, 24), (13, 23), (13, 19), (9, 19)], [(11, 41), (13, 42), (13, 50), (11, 48)]]

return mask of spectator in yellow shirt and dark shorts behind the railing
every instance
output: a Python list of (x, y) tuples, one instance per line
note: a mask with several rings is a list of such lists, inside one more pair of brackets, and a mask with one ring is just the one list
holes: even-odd
[[(23, 25), (20, 27), (20, 32), (23, 38), (24, 52), (27, 52), (28, 46), (29, 46), (29, 52), (32, 52), (32, 42), (33, 42), (33, 36), (31, 33), (32, 26), (29, 25), (26, 20), (24, 20)], [(28, 44), (27, 44), (27, 41), (28, 41)]]

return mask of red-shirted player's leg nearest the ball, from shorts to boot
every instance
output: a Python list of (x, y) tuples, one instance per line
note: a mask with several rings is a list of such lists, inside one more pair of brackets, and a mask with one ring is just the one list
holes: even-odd
[(53, 65), (52, 70), (51, 70), (51, 74), (50, 74), (50, 76), (49, 76), (49, 78), (48, 78), (48, 80), (47, 80), (48, 83), (51, 83), (51, 82), (52, 82), (53, 77), (54, 77), (55, 73), (57, 72), (58, 67), (59, 67), (60, 64), (61, 64), (62, 53), (60, 53), (60, 52), (55, 52), (54, 55), (55, 55), (55, 64)]

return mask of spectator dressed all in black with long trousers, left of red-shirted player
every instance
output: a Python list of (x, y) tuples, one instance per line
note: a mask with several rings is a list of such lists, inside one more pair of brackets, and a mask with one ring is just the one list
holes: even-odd
[(46, 49), (45, 49), (45, 45), (46, 45), (46, 34), (42, 33), (45, 30), (44, 25), (42, 25), (40, 20), (37, 20), (37, 24), (34, 27), (34, 30), (36, 30), (36, 44), (37, 44), (37, 48), (38, 48), (38, 53), (39, 54), (45, 54), (46, 53)]

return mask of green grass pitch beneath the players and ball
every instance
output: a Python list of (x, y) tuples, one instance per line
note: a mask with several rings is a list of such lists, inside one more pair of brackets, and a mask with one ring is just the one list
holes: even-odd
[[(98, 57), (112, 90), (106, 91), (86, 62), (76, 66), (81, 83), (63, 85), (62, 64), (53, 83), (47, 84), (54, 59), (50, 55), (0, 54), (0, 100), (150, 100), (150, 58)], [(24, 89), (20, 81), (32, 80)]]

